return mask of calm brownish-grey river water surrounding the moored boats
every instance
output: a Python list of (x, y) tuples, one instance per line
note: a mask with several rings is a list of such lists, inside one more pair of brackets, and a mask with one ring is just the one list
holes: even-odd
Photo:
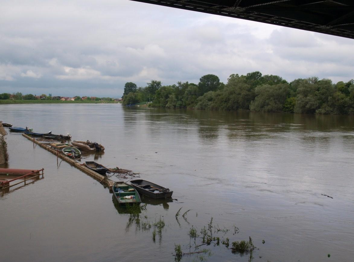
[[(0, 120), (99, 142), (104, 154), (82, 162), (173, 190), (132, 220), (98, 181), (8, 132), (6, 167), (45, 172), (0, 192), (1, 261), (174, 261), (175, 245), (208, 250), (181, 261), (249, 261), (221, 242), (249, 237), (252, 261), (353, 261), (353, 116), (32, 104), (1, 105)], [(195, 250), (208, 224), (220, 244)]]

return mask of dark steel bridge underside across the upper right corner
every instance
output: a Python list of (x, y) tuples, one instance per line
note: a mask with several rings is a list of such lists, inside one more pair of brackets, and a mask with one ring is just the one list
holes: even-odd
[(354, 39), (354, 0), (132, 0)]

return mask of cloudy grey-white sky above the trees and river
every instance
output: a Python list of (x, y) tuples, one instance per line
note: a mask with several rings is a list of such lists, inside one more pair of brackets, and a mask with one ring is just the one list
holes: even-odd
[(0, 93), (121, 97), (260, 71), (354, 78), (354, 40), (130, 0), (1, 0)]

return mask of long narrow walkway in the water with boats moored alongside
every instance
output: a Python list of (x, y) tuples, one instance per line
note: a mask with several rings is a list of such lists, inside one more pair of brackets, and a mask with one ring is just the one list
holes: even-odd
[(105, 177), (103, 175), (100, 175), (100, 174), (96, 173), (95, 171), (92, 171), (91, 169), (85, 167), (84, 165), (76, 162), (75, 159), (72, 159), (70, 157), (65, 156), (63, 153), (61, 153), (61, 151), (58, 151), (57, 149), (54, 149), (49, 144), (40, 143), (39, 141), (35, 140), (35, 138), (32, 138), (29, 135), (26, 135), (26, 134), (22, 134), (22, 135), (25, 138), (27, 138), (28, 140), (33, 141), (33, 143), (35, 143), (35, 144), (39, 145), (40, 147), (44, 148), (45, 150), (53, 153), (58, 158), (63, 159), (65, 162), (68, 162), (69, 164), (71, 164), (74, 167), (80, 169), (82, 172), (86, 173), (87, 175), (95, 178), (97, 181), (99, 181), (104, 186), (109, 187), (109, 190), (112, 191), (112, 186), (114, 184), (114, 181), (112, 181), (110, 179), (107, 179), (107, 177)]

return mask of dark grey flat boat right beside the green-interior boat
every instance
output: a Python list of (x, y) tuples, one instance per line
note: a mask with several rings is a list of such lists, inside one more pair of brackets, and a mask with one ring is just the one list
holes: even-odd
[(152, 198), (172, 197), (173, 191), (142, 179), (131, 180), (130, 184), (141, 194)]

